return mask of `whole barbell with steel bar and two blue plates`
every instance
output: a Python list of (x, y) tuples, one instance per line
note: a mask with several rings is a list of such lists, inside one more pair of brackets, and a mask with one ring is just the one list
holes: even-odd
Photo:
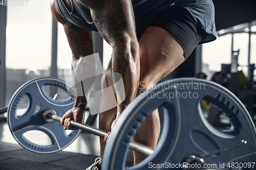
[[(67, 89), (65, 82), (56, 78), (34, 79), (14, 93), (8, 107), (7, 121), (12, 135), (24, 148), (36, 153), (60, 151), (80, 133), (80, 130), (74, 130), (67, 135), (59, 123), (60, 117), (73, 107), (74, 96), (65, 101), (53, 100), (44, 89), (46, 85)], [(18, 104), (25, 95), (29, 97), (29, 106), (25, 114), (17, 116)], [(201, 100), (211, 102), (222, 110), (231, 128), (220, 131), (212, 127), (203, 115)], [(156, 149), (131, 142), (143, 120), (158, 107), (163, 108), (164, 123)], [(74, 121), (71, 125), (101, 137), (106, 134)], [(45, 132), (52, 144), (41, 146), (28, 141), (23, 134), (30, 130)], [(149, 169), (150, 165), (166, 163), (169, 168), (179, 169), (180, 166), (172, 166), (184, 162), (216, 164), (217, 168), (229, 169), (230, 163), (255, 162), (255, 136), (256, 130), (246, 108), (226, 88), (195, 78), (169, 80), (143, 92), (125, 108), (106, 143), (102, 167), (126, 169), (126, 153), (130, 147), (149, 156), (129, 169)], [(224, 167), (219, 167), (220, 164)], [(150, 169), (160, 168), (154, 166)]]

